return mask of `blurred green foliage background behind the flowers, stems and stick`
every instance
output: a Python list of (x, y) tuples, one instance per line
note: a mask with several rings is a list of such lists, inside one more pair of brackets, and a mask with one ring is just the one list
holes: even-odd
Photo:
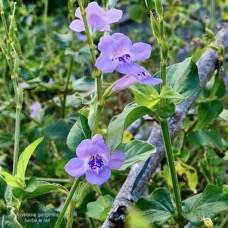
[[(105, 2), (98, 1), (100, 5)], [(3, 3), (4, 12), (1, 9), (1, 15), (5, 14), (9, 25), (13, 1), (6, 0)], [(163, 5), (170, 50), (168, 65), (181, 62), (207, 45), (211, 40), (205, 32), (206, 27), (216, 32), (217, 26), (228, 20), (228, 3), (225, 0), (167, 0), (163, 1)], [(63, 0), (17, 1), (14, 22), (17, 39), (12, 41), (20, 59), (18, 80), (24, 91), (20, 116), (20, 151), (35, 139), (45, 137), (29, 162), (27, 176), (35, 174), (42, 180), (63, 183), (65, 187), (69, 186), (70, 180), (63, 167), (75, 156), (66, 145), (67, 135), (79, 118), (77, 111), (86, 106), (94, 95), (94, 75), (85, 36), (71, 32), (68, 27), (74, 19), (76, 6), (75, 0), (69, 0), (67, 4)], [(118, 27), (115, 25), (112, 30), (127, 34), (133, 42), (142, 40), (152, 45), (151, 58), (144, 67), (154, 74), (159, 70), (160, 54), (151, 32), (145, 2), (123, 0), (116, 7), (124, 11), (124, 17)], [(153, 0), (150, 1), (149, 8), (154, 9)], [(95, 44), (100, 36), (98, 33)], [(0, 37), (7, 42), (2, 21)], [(174, 141), (177, 172), (184, 198), (192, 192), (201, 192), (207, 183), (219, 186), (228, 183), (227, 56), (222, 69), (221, 72), (215, 72), (202, 91), (188, 113), (182, 132)], [(16, 105), (10, 69), (2, 52), (0, 75), (0, 165), (11, 172)], [(117, 73), (112, 76), (105, 74), (105, 87), (118, 78)], [(113, 115), (119, 114), (125, 104), (133, 100), (132, 97), (130, 91), (125, 90), (109, 99), (102, 116), (103, 129), (107, 128)], [(124, 141), (130, 141), (134, 137), (146, 140), (150, 128), (150, 120), (143, 120), (134, 134), (125, 132)], [(85, 186), (76, 206), (79, 216), (75, 217), (75, 224), (81, 227), (93, 223), (100, 225), (125, 174), (113, 172), (112, 180), (102, 188), (102, 194), (107, 195), (105, 205), (95, 201), (97, 193), (91, 186)], [(167, 166), (161, 164), (148, 186), (152, 191), (164, 185), (170, 187), (170, 176)], [(49, 194), (48, 204), (57, 207), (63, 198), (58, 193)], [(38, 196), (36, 200), (47, 204), (45, 195)], [(23, 201), (22, 210), (34, 202), (35, 199)], [(101, 209), (94, 213), (98, 205)], [(219, 220), (218, 218), (218, 223), (221, 222)]]

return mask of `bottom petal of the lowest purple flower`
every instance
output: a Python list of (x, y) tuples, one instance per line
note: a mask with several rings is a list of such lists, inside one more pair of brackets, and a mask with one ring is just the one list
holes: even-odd
[(102, 170), (100, 170), (99, 174), (91, 170), (87, 170), (86, 172), (86, 180), (90, 184), (102, 185), (110, 178), (110, 176), (111, 176), (111, 171), (106, 166)]

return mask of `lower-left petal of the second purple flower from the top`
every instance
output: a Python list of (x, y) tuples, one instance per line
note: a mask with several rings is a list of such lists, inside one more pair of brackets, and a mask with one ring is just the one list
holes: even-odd
[(116, 64), (105, 55), (97, 58), (95, 66), (103, 73), (111, 73), (116, 69)]

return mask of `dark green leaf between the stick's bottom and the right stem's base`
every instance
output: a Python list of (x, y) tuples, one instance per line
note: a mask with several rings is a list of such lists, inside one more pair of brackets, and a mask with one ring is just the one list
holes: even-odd
[(175, 215), (170, 194), (166, 188), (158, 188), (149, 196), (142, 197), (136, 203), (136, 208), (150, 223), (163, 225)]

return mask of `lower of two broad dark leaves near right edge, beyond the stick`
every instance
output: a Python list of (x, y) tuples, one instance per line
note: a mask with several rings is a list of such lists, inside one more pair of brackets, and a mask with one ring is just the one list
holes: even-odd
[(207, 126), (199, 131), (193, 131), (189, 134), (188, 140), (198, 147), (216, 146), (218, 149), (223, 147), (221, 135), (214, 126)]

